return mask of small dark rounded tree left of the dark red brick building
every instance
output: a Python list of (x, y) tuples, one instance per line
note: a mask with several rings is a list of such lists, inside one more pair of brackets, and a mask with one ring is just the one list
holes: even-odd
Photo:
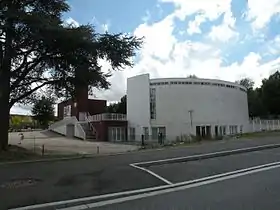
[(49, 122), (54, 120), (54, 101), (43, 96), (35, 101), (31, 111), (40, 126), (47, 128)]

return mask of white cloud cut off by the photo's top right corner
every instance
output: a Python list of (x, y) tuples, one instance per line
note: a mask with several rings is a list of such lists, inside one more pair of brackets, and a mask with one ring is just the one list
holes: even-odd
[(253, 29), (262, 29), (272, 16), (280, 13), (280, 0), (248, 0), (247, 20)]

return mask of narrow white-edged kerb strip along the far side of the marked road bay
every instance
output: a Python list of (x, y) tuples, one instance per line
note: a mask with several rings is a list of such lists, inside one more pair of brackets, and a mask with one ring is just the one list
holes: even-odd
[(248, 148), (242, 148), (242, 149), (213, 152), (213, 153), (207, 153), (207, 154), (202, 154), (202, 155), (192, 155), (192, 156), (179, 157), (179, 158), (170, 158), (170, 159), (163, 159), (163, 160), (156, 160), (156, 161), (133, 163), (133, 165), (140, 166), (140, 167), (150, 167), (150, 166), (155, 166), (155, 165), (204, 160), (204, 159), (210, 159), (210, 158), (215, 158), (215, 157), (236, 155), (236, 154), (241, 154), (241, 153), (246, 153), (246, 152), (274, 149), (274, 148), (279, 148), (279, 147), (280, 147), (280, 144), (268, 144), (268, 145), (262, 145), (262, 146), (256, 146), (256, 147), (248, 147)]

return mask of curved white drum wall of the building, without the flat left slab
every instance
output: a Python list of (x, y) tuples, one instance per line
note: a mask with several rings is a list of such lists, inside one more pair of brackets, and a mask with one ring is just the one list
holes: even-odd
[[(152, 126), (166, 125), (168, 135), (195, 133), (196, 125), (245, 125), (249, 121), (247, 94), (237, 84), (219, 80), (201, 79), (155, 79), (154, 82), (169, 82), (154, 85), (156, 88), (156, 120)], [(236, 89), (200, 84), (170, 84), (171, 81), (211, 82), (236, 86)], [(189, 110), (193, 110), (193, 129), (190, 126)]]

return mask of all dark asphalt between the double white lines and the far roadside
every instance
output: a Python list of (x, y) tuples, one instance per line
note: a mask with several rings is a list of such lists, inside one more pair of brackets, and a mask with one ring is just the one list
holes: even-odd
[[(117, 156), (0, 165), (0, 209), (160, 186), (165, 183), (144, 171), (130, 167), (129, 164), (279, 142), (278, 137), (262, 137), (248, 141), (221, 141)], [(172, 182), (180, 182), (273, 161), (280, 161), (280, 149), (202, 160), (197, 163), (153, 166), (150, 169)], [(26, 184), (26, 180), (31, 181)]]

